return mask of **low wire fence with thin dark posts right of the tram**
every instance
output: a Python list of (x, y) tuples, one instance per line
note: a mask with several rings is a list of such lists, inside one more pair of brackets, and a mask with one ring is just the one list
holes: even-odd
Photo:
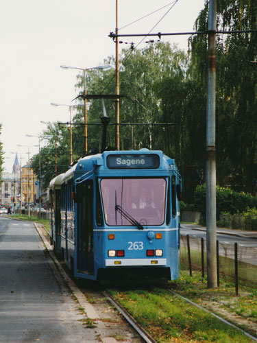
[[(192, 275), (193, 270), (206, 273), (206, 239), (180, 235), (180, 263)], [(217, 241), (217, 279), (232, 281), (236, 294), (238, 285), (257, 285), (257, 247), (227, 244)]]

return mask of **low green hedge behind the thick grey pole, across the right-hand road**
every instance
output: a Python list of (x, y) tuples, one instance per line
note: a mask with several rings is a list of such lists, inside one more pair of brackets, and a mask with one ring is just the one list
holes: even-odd
[[(199, 185), (195, 189), (195, 209), (202, 213), (203, 221), (206, 221), (206, 185)], [(225, 187), (216, 187), (217, 220), (220, 220), (222, 212), (232, 215), (247, 212), (257, 208), (257, 197), (249, 193), (238, 193)]]

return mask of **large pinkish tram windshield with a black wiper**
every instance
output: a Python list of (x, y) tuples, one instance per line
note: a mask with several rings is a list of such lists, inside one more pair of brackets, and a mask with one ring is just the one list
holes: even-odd
[(165, 178), (103, 178), (100, 187), (106, 224), (140, 228), (164, 223)]

